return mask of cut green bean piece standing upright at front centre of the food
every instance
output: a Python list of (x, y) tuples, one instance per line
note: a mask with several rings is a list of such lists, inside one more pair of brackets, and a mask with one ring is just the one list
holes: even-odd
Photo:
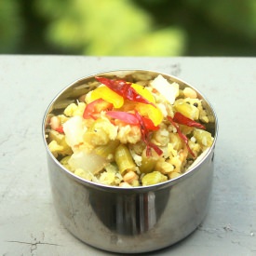
[(136, 167), (128, 147), (124, 144), (120, 144), (115, 150), (115, 163), (121, 174), (127, 169), (134, 170)]

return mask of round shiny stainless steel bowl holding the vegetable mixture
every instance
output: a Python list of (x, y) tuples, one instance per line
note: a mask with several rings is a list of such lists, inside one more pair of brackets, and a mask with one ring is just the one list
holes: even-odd
[[(151, 79), (160, 73), (121, 70), (92, 74), (75, 81), (49, 104), (43, 121), (43, 137), (54, 206), (64, 226), (74, 236), (98, 249), (139, 253), (163, 249), (180, 241), (205, 218), (209, 207), (218, 124), (209, 101), (194, 88), (211, 118), (208, 129), (214, 141), (208, 153), (189, 171), (168, 182), (136, 188), (110, 187), (75, 176), (61, 166), (47, 147), (49, 116), (88, 92), (85, 85), (95, 75), (122, 77), (125, 74), (146, 75)], [(162, 75), (181, 87), (191, 87), (176, 77)]]

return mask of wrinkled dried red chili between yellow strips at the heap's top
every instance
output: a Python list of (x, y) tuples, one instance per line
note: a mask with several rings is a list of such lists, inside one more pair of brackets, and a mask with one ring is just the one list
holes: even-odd
[(101, 84), (105, 85), (106, 87), (112, 89), (117, 94), (122, 96), (125, 100), (151, 104), (155, 107), (154, 103), (147, 101), (140, 94), (138, 94), (134, 88), (131, 87), (132, 83), (129, 83), (125, 80), (108, 79), (100, 76), (96, 76), (95, 78)]

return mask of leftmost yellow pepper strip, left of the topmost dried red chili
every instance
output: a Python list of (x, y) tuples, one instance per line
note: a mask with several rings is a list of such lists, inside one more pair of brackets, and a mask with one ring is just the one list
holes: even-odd
[(115, 91), (105, 86), (94, 89), (91, 92), (90, 98), (91, 101), (103, 99), (104, 101), (112, 103), (115, 108), (120, 108), (124, 104), (124, 98), (122, 96), (118, 95)]

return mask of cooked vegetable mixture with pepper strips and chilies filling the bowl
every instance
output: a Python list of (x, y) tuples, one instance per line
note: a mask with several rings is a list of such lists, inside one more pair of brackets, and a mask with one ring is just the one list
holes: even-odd
[(51, 115), (47, 128), (49, 150), (75, 175), (111, 186), (152, 185), (179, 177), (211, 146), (210, 118), (193, 88), (162, 75), (95, 82)]

